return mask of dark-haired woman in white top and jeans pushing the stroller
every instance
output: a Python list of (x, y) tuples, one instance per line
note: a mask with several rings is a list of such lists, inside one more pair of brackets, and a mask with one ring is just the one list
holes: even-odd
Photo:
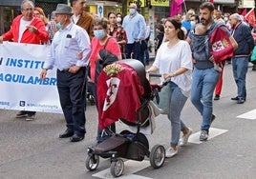
[(181, 146), (186, 145), (192, 133), (181, 120), (181, 110), (189, 96), (192, 83), (192, 56), (189, 44), (184, 41), (184, 32), (181, 22), (176, 18), (167, 18), (164, 24), (164, 33), (167, 42), (163, 42), (158, 50), (156, 59), (146, 72), (159, 70), (164, 79), (171, 78), (170, 109), (168, 119), (171, 121), (171, 147), (166, 150), (166, 157), (173, 157), (178, 153), (178, 144), (181, 137)]

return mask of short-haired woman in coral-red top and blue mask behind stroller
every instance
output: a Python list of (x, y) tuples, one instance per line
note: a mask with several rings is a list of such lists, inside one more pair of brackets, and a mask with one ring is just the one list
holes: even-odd
[[(95, 37), (91, 42), (91, 56), (90, 56), (90, 77), (92, 80), (92, 90), (96, 98), (96, 60), (98, 59), (99, 50), (108, 50), (110, 53), (115, 54), (118, 60), (121, 60), (121, 51), (117, 44), (116, 38), (111, 37), (108, 32), (110, 28), (109, 21), (106, 18), (96, 18), (93, 23)], [(97, 107), (97, 101), (96, 101)], [(115, 124), (113, 125), (115, 130)], [(98, 129), (97, 142), (102, 142), (102, 132)]]

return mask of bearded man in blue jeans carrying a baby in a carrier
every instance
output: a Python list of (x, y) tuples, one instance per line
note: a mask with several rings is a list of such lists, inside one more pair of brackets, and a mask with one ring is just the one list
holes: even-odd
[[(217, 23), (213, 20), (214, 6), (210, 2), (204, 2), (200, 6), (201, 23), (206, 28), (206, 33), (210, 35), (215, 30)], [(230, 35), (229, 31), (225, 27), (221, 27), (229, 35), (231, 42), (235, 43), (234, 38)], [(193, 30), (192, 30), (193, 31)], [(190, 32), (187, 37), (187, 41), (192, 45), (194, 33)], [(209, 41), (207, 42), (209, 43)], [(210, 47), (207, 44), (207, 47)], [(236, 47), (234, 47), (236, 49)], [(214, 58), (207, 50), (206, 58), (197, 59), (194, 58), (194, 70), (193, 70), (193, 82), (191, 87), (191, 102), (198, 109), (203, 117), (201, 125), (200, 140), (205, 141), (208, 138), (209, 128), (212, 121), (215, 119), (215, 115), (212, 114), (213, 106), (213, 92), (216, 87), (217, 81), (220, 77), (220, 71), (214, 69)], [(197, 51), (196, 51), (197, 52)]]

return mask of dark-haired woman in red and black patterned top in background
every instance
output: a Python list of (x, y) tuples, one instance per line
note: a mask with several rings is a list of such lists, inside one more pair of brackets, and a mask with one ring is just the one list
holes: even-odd
[[(121, 26), (121, 16), (115, 12), (109, 12), (108, 19), (110, 22), (109, 35), (117, 39), (117, 43), (121, 50), (122, 59), (125, 59), (124, 45), (127, 43), (126, 31)], [(118, 24), (119, 23), (119, 24)]]

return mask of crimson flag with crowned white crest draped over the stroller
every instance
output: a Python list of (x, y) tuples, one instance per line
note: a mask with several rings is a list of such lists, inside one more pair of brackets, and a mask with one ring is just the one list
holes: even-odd
[(124, 63), (105, 67), (97, 82), (99, 128), (105, 129), (120, 118), (135, 123), (143, 93), (136, 70)]

